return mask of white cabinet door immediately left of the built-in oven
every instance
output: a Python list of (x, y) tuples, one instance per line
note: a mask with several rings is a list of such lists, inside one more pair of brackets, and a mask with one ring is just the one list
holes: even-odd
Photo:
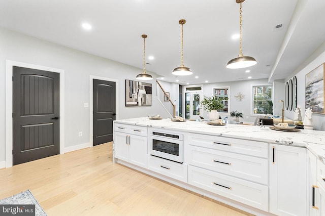
[(129, 162), (147, 168), (147, 137), (130, 135)]

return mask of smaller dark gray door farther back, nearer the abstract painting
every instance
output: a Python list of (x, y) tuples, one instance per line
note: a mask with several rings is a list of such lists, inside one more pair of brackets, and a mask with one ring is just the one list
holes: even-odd
[(115, 82), (93, 80), (93, 145), (113, 141)]

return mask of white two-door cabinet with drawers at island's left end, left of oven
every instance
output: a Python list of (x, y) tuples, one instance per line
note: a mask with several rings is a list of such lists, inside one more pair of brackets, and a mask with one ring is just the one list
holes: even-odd
[(147, 168), (147, 128), (115, 124), (114, 130), (114, 157)]

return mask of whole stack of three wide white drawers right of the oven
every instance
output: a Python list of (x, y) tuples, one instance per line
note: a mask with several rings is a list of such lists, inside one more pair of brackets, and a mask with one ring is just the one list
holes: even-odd
[(188, 184), (268, 211), (268, 144), (189, 134)]

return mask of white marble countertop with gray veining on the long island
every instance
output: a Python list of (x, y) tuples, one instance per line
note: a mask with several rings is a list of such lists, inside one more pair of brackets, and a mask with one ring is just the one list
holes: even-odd
[(300, 132), (282, 132), (242, 124), (209, 125), (207, 121), (175, 122), (171, 119), (150, 120), (148, 117), (115, 120), (116, 123), (154, 128), (165, 128), (183, 132), (255, 140), (262, 142), (306, 147), (325, 163), (325, 132), (302, 129)]

